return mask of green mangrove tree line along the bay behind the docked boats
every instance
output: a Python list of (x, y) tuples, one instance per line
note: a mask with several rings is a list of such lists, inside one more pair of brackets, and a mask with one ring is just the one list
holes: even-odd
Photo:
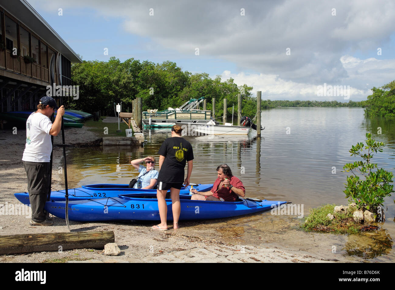
[[(242, 116), (253, 118), (256, 114), (256, 98), (252, 87), (237, 85), (232, 78), (221, 81), (207, 73), (192, 74), (182, 71), (176, 63), (164, 61), (140, 62), (131, 58), (121, 62), (115, 57), (109, 61), (83, 61), (71, 65), (73, 84), (79, 85), (80, 98), (66, 98), (70, 109), (113, 116), (113, 104), (122, 102), (122, 110), (132, 100), (141, 97), (143, 111), (177, 108), (184, 102), (201, 97), (207, 98), (207, 110), (212, 110), (212, 98), (216, 98), (216, 117), (223, 116), (223, 100), (228, 100), (227, 116), (231, 117), (232, 106), (237, 108), (237, 94), (242, 94)], [(317, 100), (262, 100), (261, 109), (275, 107), (364, 107), (367, 116), (395, 116), (395, 81), (381, 88), (374, 87), (366, 101), (338, 102)], [(237, 109), (234, 116), (237, 118)]]

